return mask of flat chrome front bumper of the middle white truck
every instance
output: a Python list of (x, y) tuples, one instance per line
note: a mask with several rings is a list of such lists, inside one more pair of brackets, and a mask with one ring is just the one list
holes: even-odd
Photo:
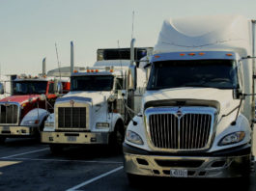
[(108, 132), (41, 132), (46, 144), (107, 144)]

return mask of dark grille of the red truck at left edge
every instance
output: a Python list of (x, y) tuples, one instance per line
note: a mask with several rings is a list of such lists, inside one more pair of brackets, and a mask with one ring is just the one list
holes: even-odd
[(0, 105), (0, 123), (16, 124), (18, 121), (18, 106), (15, 104)]

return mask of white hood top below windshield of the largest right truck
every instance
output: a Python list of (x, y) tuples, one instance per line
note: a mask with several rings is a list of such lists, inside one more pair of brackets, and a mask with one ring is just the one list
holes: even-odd
[(232, 90), (214, 88), (177, 88), (147, 91), (143, 97), (143, 105), (145, 106), (146, 103), (151, 101), (160, 100), (190, 100), (191, 103), (194, 102), (194, 106), (197, 106), (198, 103), (204, 103), (203, 105), (215, 107), (220, 115), (227, 114), (240, 103), (239, 99), (233, 98)]

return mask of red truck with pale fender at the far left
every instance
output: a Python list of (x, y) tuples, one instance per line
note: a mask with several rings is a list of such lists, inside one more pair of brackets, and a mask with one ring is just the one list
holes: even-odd
[(17, 76), (11, 83), (11, 95), (0, 100), (0, 139), (40, 135), (46, 117), (53, 111), (55, 87), (68, 91), (69, 82), (54, 81), (44, 76)]

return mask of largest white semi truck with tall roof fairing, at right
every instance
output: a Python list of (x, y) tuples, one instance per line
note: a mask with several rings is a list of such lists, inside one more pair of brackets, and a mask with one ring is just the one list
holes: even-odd
[(131, 182), (249, 176), (254, 33), (255, 21), (240, 15), (163, 22), (141, 115), (128, 124), (123, 146)]

